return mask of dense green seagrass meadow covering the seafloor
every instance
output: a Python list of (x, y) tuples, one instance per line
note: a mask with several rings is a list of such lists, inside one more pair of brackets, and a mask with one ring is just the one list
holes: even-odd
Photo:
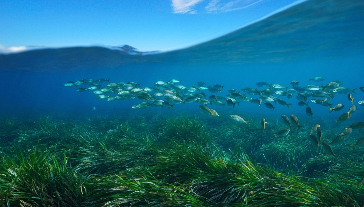
[[(247, 117), (247, 116), (245, 116)], [(203, 115), (0, 122), (0, 206), (363, 206), (364, 147)], [(253, 119), (253, 120), (252, 120)], [(268, 126), (269, 125), (269, 126)], [(342, 126), (343, 128), (343, 126)], [(342, 129), (341, 128), (341, 129)]]

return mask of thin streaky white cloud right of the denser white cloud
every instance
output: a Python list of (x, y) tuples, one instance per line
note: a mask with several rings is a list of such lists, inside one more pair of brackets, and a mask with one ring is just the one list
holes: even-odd
[(207, 13), (220, 13), (230, 12), (239, 9), (248, 8), (254, 4), (260, 3), (264, 0), (234, 0), (234, 1), (221, 1), (211, 0), (205, 7)]

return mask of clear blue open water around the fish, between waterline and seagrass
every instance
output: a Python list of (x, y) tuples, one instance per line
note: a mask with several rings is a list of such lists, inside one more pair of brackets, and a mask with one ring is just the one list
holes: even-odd
[[(361, 1), (306, 1), (225, 36), (189, 48), (132, 54), (116, 48), (73, 47), (29, 50), (1, 54), (0, 114), (65, 113), (118, 114), (130, 110), (138, 101), (107, 102), (90, 92), (64, 87), (67, 81), (85, 78), (110, 78), (111, 82), (137, 82), (140, 87), (156, 81), (182, 80), (192, 86), (221, 84), (227, 89), (258, 88), (260, 81), (289, 86), (298, 80), (325, 85), (334, 80), (343, 87), (359, 88), (363, 82), (364, 5)], [(308, 81), (321, 76), (322, 82)], [(258, 88), (264, 89), (264, 88)], [(364, 100), (357, 89), (355, 103)], [(211, 94), (206, 92), (206, 94)], [(249, 94), (247, 94), (249, 95)], [(250, 96), (257, 98), (257, 96)], [(262, 114), (302, 114), (293, 96), (289, 109), (277, 105), (274, 110), (242, 103), (239, 110)], [(347, 103), (345, 94), (336, 94), (331, 103)], [(359, 106), (359, 105), (358, 105)], [(90, 111), (91, 107), (98, 110)], [(314, 115), (335, 118), (328, 109), (311, 104)], [(361, 106), (359, 106), (360, 108)], [(198, 108), (198, 103), (176, 105), (174, 110)], [(220, 107), (218, 107), (220, 109)], [(223, 113), (223, 109), (220, 110)], [(161, 110), (163, 109), (148, 109)], [(138, 112), (136, 112), (138, 113)], [(360, 113), (360, 111), (359, 111)], [(332, 116), (331, 116), (332, 115)]]

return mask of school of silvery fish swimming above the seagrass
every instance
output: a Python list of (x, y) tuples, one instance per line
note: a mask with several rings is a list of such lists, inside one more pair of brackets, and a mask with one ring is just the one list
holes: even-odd
[[(324, 80), (325, 79), (322, 77), (314, 77), (309, 79), (309, 81), (314, 82), (321, 82)], [(103, 86), (104, 83), (106, 86)], [(219, 115), (214, 109), (207, 107), (208, 104), (223, 107), (227, 105), (235, 108), (235, 105), (239, 105), (241, 101), (257, 104), (258, 107), (260, 107), (261, 103), (264, 102), (264, 105), (268, 109), (274, 110), (277, 102), (278, 104), (287, 106), (289, 108), (292, 103), (287, 103), (282, 99), (282, 97), (287, 97), (290, 99), (294, 97), (294, 94), (296, 94), (296, 100), (299, 101), (297, 103), (298, 106), (306, 106), (305, 112), (308, 116), (313, 115), (311, 107), (308, 106), (309, 103), (329, 107), (329, 113), (342, 110), (344, 108), (343, 103), (338, 103), (337, 105), (333, 106), (333, 103), (330, 103), (330, 101), (334, 98), (335, 94), (347, 94), (347, 98), (352, 106), (347, 112), (341, 114), (339, 118), (336, 119), (336, 125), (339, 122), (344, 122), (349, 119), (357, 110), (357, 106), (353, 105), (353, 93), (355, 93), (356, 88), (349, 89), (341, 87), (343, 85), (343, 81), (339, 80), (329, 82), (325, 85), (321, 84), (321, 86), (306, 85), (304, 87), (300, 87), (297, 80), (291, 81), (289, 86), (268, 84), (267, 82), (258, 82), (256, 85), (262, 89), (258, 90), (257, 88), (242, 88), (242, 93), (235, 89), (229, 89), (229, 93), (226, 96), (216, 96), (214, 94), (207, 96), (205, 91), (209, 91), (210, 93), (222, 93), (224, 86), (219, 84), (206, 86), (205, 82), (197, 82), (197, 84), (193, 84), (192, 86), (183, 86), (181, 85), (180, 80), (171, 79), (167, 82), (157, 81), (155, 82), (154, 86), (151, 87), (140, 88), (140, 84), (136, 82), (110, 83), (110, 79), (106, 78), (100, 78), (97, 80), (88, 78), (79, 81), (68, 81), (66, 84), (64, 84), (64, 86), (67, 87), (79, 86), (76, 89), (78, 92), (91, 91), (96, 95), (96, 98), (100, 100), (117, 101), (138, 98), (139, 100), (143, 101), (137, 105), (131, 106), (133, 109), (146, 109), (150, 106), (172, 108), (175, 104), (179, 103), (185, 104), (197, 102), (200, 104), (200, 109), (204, 113), (210, 114), (211, 117), (221, 117), (221, 115)], [(359, 89), (364, 92), (364, 86), (361, 86)], [(252, 98), (249, 96), (257, 97)], [(308, 99), (310, 100), (307, 101)], [(364, 100), (357, 103), (361, 106), (364, 106)], [(91, 110), (95, 109), (95, 107), (92, 107)], [(230, 117), (234, 121), (244, 123), (246, 125), (249, 122), (239, 115), (230, 115)], [(287, 128), (277, 131), (276, 134), (273, 134), (276, 138), (288, 135), (295, 126), (297, 126), (297, 132), (302, 127), (298, 121), (298, 118), (294, 114), (289, 115), (289, 118), (286, 115), (281, 115), (281, 118)], [(263, 131), (266, 128), (266, 124), (268, 124), (268, 122), (266, 122), (266, 120), (263, 118), (261, 120)], [(344, 143), (353, 130), (359, 130), (360, 132), (363, 127), (364, 122), (356, 122), (345, 128), (346, 131), (338, 134), (332, 139), (330, 143), (328, 143), (321, 141), (321, 126), (316, 124), (309, 131), (308, 140), (317, 147), (321, 144), (326, 153), (337, 157), (337, 155), (331, 149), (331, 145), (339, 145)], [(350, 146), (353, 147), (353, 150), (355, 150), (355, 147), (364, 146), (364, 138), (358, 140), (355, 145)]]

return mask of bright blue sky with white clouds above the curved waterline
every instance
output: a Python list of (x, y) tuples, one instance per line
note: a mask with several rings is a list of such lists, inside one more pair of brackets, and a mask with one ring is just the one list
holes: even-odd
[(296, 2), (0, 0), (0, 49), (127, 44), (171, 50), (222, 36)]

